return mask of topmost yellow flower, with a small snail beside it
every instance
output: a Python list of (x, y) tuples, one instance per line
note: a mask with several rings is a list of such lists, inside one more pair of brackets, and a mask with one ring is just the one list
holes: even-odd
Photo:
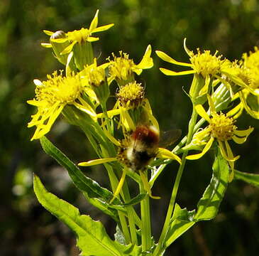
[[(80, 45), (85, 42), (98, 41), (99, 38), (93, 37), (92, 33), (106, 31), (109, 28), (111, 28), (112, 26), (114, 26), (114, 23), (111, 23), (109, 25), (97, 27), (98, 26), (98, 14), (99, 14), (99, 10), (97, 10), (89, 28), (81, 28), (79, 31), (75, 30), (72, 32), (67, 32), (67, 33), (65, 33), (65, 38), (51, 39), (51, 41), (53, 41), (55, 43), (65, 43), (67, 41), (70, 43), (70, 45), (67, 46), (65, 48), (65, 50), (62, 51), (61, 54), (70, 53), (76, 44)], [(48, 36), (52, 36), (55, 32), (45, 30), (44, 33), (46, 33)], [(47, 47), (47, 48), (51, 47), (50, 44), (46, 44), (46, 43), (42, 43), (42, 46)]]

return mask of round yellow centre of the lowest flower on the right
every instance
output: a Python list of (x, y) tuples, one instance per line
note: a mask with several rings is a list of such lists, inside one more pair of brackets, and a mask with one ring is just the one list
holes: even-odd
[(226, 117), (225, 114), (212, 114), (209, 129), (214, 138), (219, 139), (221, 142), (232, 139), (233, 132), (237, 129), (234, 125), (234, 120), (231, 117)]

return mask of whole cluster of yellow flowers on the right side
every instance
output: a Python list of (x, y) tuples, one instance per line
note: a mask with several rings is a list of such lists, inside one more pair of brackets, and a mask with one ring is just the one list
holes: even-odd
[[(194, 105), (194, 111), (202, 117), (203, 122), (208, 122), (206, 127), (197, 129), (192, 140), (185, 149), (200, 149), (199, 154), (187, 156), (187, 159), (194, 160), (201, 158), (211, 145), (216, 142), (222, 156), (228, 161), (231, 167), (229, 181), (233, 179), (234, 161), (239, 156), (233, 156), (228, 142), (233, 140), (238, 144), (246, 142), (248, 135), (253, 128), (238, 130), (236, 119), (241, 115), (243, 109), (252, 117), (259, 118), (258, 105), (258, 75), (259, 75), (259, 52), (243, 54), (242, 60), (231, 62), (222, 55), (216, 56), (218, 51), (211, 55), (209, 50), (203, 52), (197, 49), (197, 54), (189, 50), (184, 39), (184, 49), (189, 55), (190, 63), (181, 63), (174, 60), (166, 53), (157, 50), (158, 57), (169, 63), (191, 68), (190, 70), (175, 72), (160, 68), (165, 75), (189, 75), (194, 74), (194, 79), (189, 90), (189, 95)], [(249, 99), (253, 97), (256, 106), (249, 105)], [(238, 104), (233, 104), (239, 100)], [(252, 100), (251, 100), (252, 101)], [(209, 102), (209, 109), (204, 106)], [(228, 110), (224, 113), (222, 111)], [(202, 122), (202, 123), (203, 123)]]

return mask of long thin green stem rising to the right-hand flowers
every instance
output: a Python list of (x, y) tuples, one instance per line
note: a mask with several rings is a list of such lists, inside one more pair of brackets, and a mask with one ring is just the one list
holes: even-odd
[[(196, 124), (196, 120), (197, 120), (197, 112), (195, 111), (195, 109), (193, 107), (192, 117), (189, 121), (189, 130), (188, 130), (187, 142), (186, 142), (187, 144), (189, 144), (189, 142), (191, 142), (191, 140), (192, 140), (192, 134), (194, 132), (194, 126)], [(185, 151), (184, 154), (182, 155), (182, 164), (179, 166), (179, 169), (177, 171), (177, 176), (175, 178), (175, 184), (174, 184), (174, 187), (172, 188), (172, 195), (171, 195), (170, 203), (169, 203), (169, 206), (168, 206), (168, 209), (167, 209), (167, 215), (165, 217), (165, 223), (164, 223), (164, 226), (162, 228), (162, 233), (160, 235), (158, 245), (155, 248), (155, 251), (154, 251), (154, 254), (153, 254), (154, 256), (160, 255), (160, 253), (162, 253), (162, 250), (164, 250), (163, 244), (165, 242), (165, 237), (167, 235), (167, 231), (168, 231), (168, 228), (169, 228), (169, 225), (170, 225), (172, 213), (173, 213), (173, 210), (175, 208), (175, 199), (176, 199), (177, 191), (178, 191), (180, 181), (181, 181), (181, 178), (182, 178), (182, 172), (184, 170), (187, 154), (188, 154), (188, 151)]]

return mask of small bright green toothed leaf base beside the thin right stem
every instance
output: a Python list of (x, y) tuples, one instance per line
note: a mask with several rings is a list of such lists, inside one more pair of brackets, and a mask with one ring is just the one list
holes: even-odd
[(165, 238), (165, 247), (168, 247), (172, 242), (179, 238), (184, 232), (191, 228), (194, 224), (195, 210), (188, 211), (186, 208), (181, 209), (176, 203), (170, 229)]

